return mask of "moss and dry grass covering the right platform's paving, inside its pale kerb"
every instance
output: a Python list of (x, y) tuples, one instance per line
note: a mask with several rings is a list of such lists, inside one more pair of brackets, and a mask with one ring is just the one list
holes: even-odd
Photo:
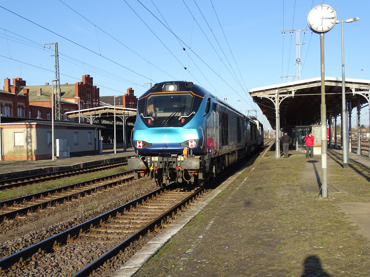
[[(369, 276), (370, 243), (337, 205), (370, 202), (369, 168), (330, 162), (328, 184), (342, 190), (322, 198), (300, 189), (317, 187), (300, 182), (306, 163), (304, 155), (258, 158), (135, 276), (316, 276), (319, 266), (331, 276)], [(302, 275), (310, 257), (321, 265)]]

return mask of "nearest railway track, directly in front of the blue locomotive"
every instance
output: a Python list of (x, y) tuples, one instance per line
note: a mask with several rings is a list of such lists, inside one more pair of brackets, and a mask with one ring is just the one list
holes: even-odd
[[(0, 276), (102, 276), (128, 260), (204, 188), (159, 188), (0, 260)], [(116, 265), (117, 267), (118, 265)]]

